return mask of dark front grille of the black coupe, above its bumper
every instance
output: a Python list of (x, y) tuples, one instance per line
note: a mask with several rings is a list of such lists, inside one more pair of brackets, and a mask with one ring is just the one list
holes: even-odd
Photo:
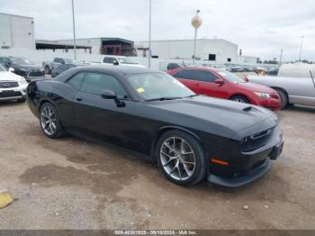
[(272, 137), (274, 132), (275, 128), (272, 128), (264, 132), (258, 132), (246, 137), (245, 140), (243, 141), (241, 150), (248, 152), (252, 150), (257, 150), (265, 146), (266, 143), (269, 141), (270, 137)]

